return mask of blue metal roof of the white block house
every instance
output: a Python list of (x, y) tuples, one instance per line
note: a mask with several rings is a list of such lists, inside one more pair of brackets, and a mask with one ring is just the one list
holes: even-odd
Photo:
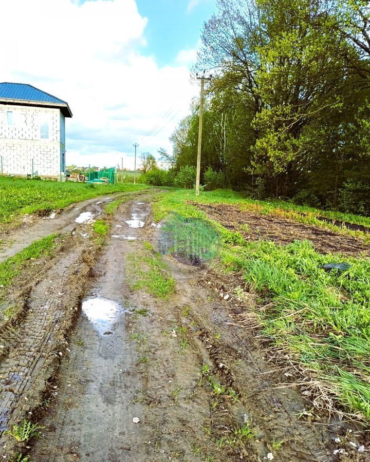
[(68, 107), (68, 103), (63, 100), (60, 100), (57, 97), (54, 97), (52, 94), (46, 93), (45, 91), (39, 90), (29, 84), (20, 84), (20, 83), (10, 83), (3, 82), (0, 83), (0, 100), (10, 102), (22, 102), (27, 103), (34, 101), (43, 106), (55, 107), (64, 106), (65, 110), (62, 110), (66, 117), (72, 117), (72, 113)]

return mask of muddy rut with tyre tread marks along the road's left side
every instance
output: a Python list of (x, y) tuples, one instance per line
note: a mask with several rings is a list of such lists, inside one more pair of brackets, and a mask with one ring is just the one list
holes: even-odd
[(87, 239), (75, 236), (72, 242), (32, 287), (18, 324), (5, 326), (0, 332), (4, 346), (0, 362), (0, 445), (4, 458), (12, 455), (15, 445), (15, 439), (5, 430), (23, 418), (32, 418), (65, 352), (65, 336), (76, 316), (91, 264), (89, 252), (93, 252)]

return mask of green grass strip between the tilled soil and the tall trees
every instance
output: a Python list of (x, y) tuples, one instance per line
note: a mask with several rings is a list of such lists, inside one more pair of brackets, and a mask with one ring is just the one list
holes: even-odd
[[(370, 228), (370, 218), (361, 215), (344, 214), (337, 211), (324, 211), (307, 206), (295, 205), (286, 201), (257, 201), (246, 198), (238, 192), (224, 189), (209, 192), (201, 191), (198, 198), (195, 197), (194, 191), (189, 189), (172, 191), (168, 196), (170, 196), (168, 200), (161, 203), (161, 206), (156, 209), (155, 218), (157, 220), (163, 218), (168, 211), (171, 210), (171, 206), (176, 207), (176, 210), (181, 210), (186, 214), (186, 201), (206, 205), (230, 204), (238, 206), (243, 211), (251, 211), (255, 214), (270, 215), (299, 223), (314, 225), (330, 229), (335, 233), (353, 236), (363, 239), (365, 242), (370, 242), (370, 235), (368, 233), (364, 233), (361, 230), (349, 229), (345, 225), (345, 223), (352, 223)], [(201, 214), (200, 211), (198, 213)], [(325, 220), (323, 221), (322, 219)]]

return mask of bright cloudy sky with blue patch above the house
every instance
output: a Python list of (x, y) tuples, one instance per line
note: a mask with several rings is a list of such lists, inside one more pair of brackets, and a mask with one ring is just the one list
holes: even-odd
[[(66, 163), (158, 157), (199, 93), (191, 82), (215, 0), (1, 0), (0, 82), (67, 101)], [(6, 45), (6, 46), (4, 46)]]

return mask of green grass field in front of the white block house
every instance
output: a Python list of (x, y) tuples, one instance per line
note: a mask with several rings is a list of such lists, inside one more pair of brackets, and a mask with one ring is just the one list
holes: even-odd
[(56, 210), (73, 202), (114, 192), (135, 192), (147, 185), (118, 183), (92, 185), (75, 182), (35, 181), (0, 177), (0, 222), (9, 223), (23, 214)]

